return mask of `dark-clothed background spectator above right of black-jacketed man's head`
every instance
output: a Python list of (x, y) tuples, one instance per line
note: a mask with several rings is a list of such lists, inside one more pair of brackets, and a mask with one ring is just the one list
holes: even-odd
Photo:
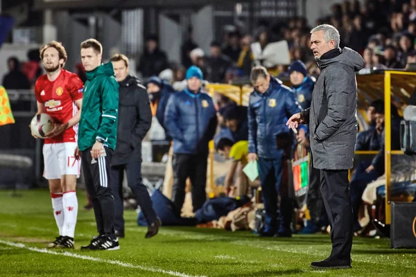
[(137, 71), (140, 71), (144, 78), (148, 78), (152, 75), (159, 75), (168, 67), (168, 58), (166, 53), (159, 49), (157, 35), (149, 35)]

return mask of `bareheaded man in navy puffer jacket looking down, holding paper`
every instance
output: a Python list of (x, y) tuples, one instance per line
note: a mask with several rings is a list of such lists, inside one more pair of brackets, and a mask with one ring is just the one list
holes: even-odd
[(293, 201), (282, 195), (280, 226), (277, 229), (277, 195), (283, 173), (284, 149), (278, 148), (277, 134), (288, 134), (286, 118), (300, 112), (291, 89), (271, 78), (263, 66), (252, 69), (250, 79), (254, 91), (248, 106), (248, 159), (259, 159), (259, 176), (266, 210), (262, 236), (275, 234), (290, 237)]

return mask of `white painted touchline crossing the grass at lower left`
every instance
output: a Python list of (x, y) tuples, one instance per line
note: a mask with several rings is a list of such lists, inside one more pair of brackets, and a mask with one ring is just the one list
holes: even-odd
[(1, 244), (6, 244), (10, 247), (28, 249), (30, 251), (35, 251), (35, 252), (39, 252), (39, 253), (47, 253), (47, 254), (58, 255), (58, 256), (69, 256), (69, 257), (72, 257), (72, 258), (78, 258), (78, 259), (82, 259), (82, 260), (92, 260), (93, 262), (106, 262), (106, 263), (111, 264), (111, 265), (119, 265), (121, 267), (137, 268), (137, 269), (141, 269), (141, 270), (144, 270), (144, 271), (151, 271), (151, 272), (155, 272), (155, 273), (163, 273), (163, 274), (168, 274), (168, 275), (177, 276), (177, 277), (207, 277), (207, 276), (193, 276), (193, 275), (180, 273), (180, 272), (177, 272), (177, 271), (158, 269), (158, 268), (155, 268), (155, 267), (144, 267), (142, 265), (132, 265), (132, 264), (129, 264), (128, 262), (121, 262), (119, 260), (105, 260), (105, 259), (102, 259), (102, 258), (95, 258), (95, 257), (91, 257), (91, 256), (79, 255), (79, 254), (72, 253), (72, 252), (55, 252), (55, 251), (51, 251), (51, 250), (48, 250), (48, 249), (42, 249), (42, 248), (37, 248), (37, 247), (27, 247), (25, 244), (22, 244), (22, 243), (7, 242), (5, 240), (0, 240), (0, 243)]

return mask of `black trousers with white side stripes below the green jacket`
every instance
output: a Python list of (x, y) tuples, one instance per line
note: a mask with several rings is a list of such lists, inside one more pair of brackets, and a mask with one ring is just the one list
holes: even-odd
[(91, 148), (81, 152), (85, 186), (91, 199), (100, 235), (114, 236), (114, 197), (111, 190), (110, 161), (113, 150), (105, 148), (106, 157), (92, 159)]

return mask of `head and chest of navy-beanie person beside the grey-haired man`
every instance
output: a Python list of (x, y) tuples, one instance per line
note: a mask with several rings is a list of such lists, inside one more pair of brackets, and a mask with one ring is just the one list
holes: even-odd
[(291, 89), (295, 93), (295, 99), (302, 107), (311, 107), (312, 91), (315, 85), (315, 78), (308, 76), (305, 64), (296, 60), (289, 66), (289, 76), (291, 78)]

